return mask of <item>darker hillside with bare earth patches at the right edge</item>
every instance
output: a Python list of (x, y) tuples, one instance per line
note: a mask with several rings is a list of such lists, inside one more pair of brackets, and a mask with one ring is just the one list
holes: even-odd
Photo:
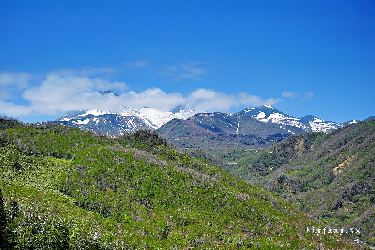
[(291, 136), (239, 159), (231, 173), (287, 198), (335, 227), (375, 234), (375, 120)]

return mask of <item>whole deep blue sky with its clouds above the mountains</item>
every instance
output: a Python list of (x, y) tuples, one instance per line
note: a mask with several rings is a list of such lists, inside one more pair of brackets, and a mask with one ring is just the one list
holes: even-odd
[(374, 1), (2, 0), (0, 34), (0, 113), (26, 122), (119, 100), (375, 115)]

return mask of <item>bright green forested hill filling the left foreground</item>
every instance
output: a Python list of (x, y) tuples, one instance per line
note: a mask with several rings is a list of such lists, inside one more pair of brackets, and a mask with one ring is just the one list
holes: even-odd
[(306, 233), (324, 226), (153, 133), (18, 126), (0, 138), (3, 249), (350, 248), (338, 234)]

